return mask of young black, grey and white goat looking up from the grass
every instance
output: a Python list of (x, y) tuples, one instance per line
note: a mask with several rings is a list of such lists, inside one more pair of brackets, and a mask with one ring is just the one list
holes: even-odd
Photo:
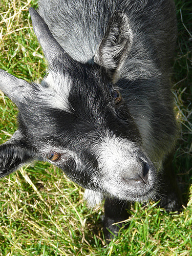
[(39, 0), (39, 13), (29, 11), (49, 70), (41, 84), (0, 71), (0, 89), (19, 110), (18, 130), (0, 147), (0, 178), (37, 160), (58, 166), (90, 206), (105, 199), (106, 238), (131, 202), (161, 199), (178, 210), (166, 164), (178, 136), (174, 2)]

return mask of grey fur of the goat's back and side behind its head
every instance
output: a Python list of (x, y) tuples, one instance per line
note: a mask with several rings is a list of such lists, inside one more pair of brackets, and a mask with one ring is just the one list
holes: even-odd
[[(169, 86), (177, 36), (173, 1), (39, 1), (39, 13), (59, 44), (82, 62), (94, 57), (114, 11), (126, 13), (132, 31), (132, 47), (119, 70), (117, 87), (124, 89), (147, 154), (152, 161), (161, 161), (173, 150), (177, 137)], [(130, 81), (129, 87), (123, 78)]]

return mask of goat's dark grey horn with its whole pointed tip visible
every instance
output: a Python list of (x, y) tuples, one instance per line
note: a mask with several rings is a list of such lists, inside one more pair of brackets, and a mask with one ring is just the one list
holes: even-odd
[[(44, 19), (33, 8), (29, 8), (31, 20), (33, 24), (33, 30), (37, 36), (37, 39), (44, 50), (44, 54), (49, 62), (49, 65), (54, 65), (55, 60), (59, 57), (67, 56), (68, 54), (59, 45), (57, 40), (52, 35)], [(68, 56), (69, 57), (69, 56)]]

